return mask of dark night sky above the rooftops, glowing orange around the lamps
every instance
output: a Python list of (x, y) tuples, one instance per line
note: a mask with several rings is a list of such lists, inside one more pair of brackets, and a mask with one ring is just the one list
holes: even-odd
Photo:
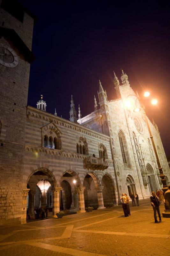
[(99, 79), (108, 100), (116, 98), (112, 71), (120, 80), (123, 68), (134, 91), (142, 95), (148, 89), (158, 98), (157, 107), (145, 100), (146, 113), (158, 124), (170, 155), (169, 1), (20, 2), (38, 18), (28, 105), (36, 107), (42, 93), (47, 112), (56, 108), (58, 116), (69, 119), (73, 94), (85, 116), (94, 109)]

